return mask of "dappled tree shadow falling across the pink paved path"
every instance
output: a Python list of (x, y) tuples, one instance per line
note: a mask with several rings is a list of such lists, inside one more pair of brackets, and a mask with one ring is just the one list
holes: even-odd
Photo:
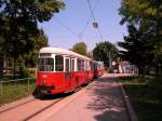
[(102, 112), (94, 117), (97, 121), (129, 121), (120, 85), (113, 77), (99, 78), (87, 91), (93, 99), (86, 108)]

